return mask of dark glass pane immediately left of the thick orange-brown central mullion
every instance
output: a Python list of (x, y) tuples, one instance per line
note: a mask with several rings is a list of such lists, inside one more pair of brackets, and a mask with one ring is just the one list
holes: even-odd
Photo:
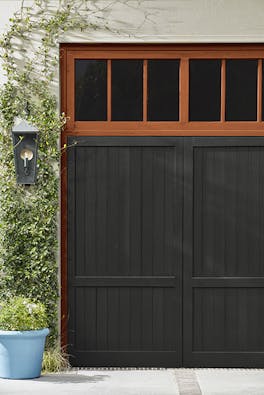
[(148, 120), (179, 120), (179, 60), (148, 61)]

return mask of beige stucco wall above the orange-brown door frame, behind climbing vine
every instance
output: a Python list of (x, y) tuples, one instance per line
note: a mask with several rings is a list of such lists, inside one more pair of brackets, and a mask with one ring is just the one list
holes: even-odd
[[(50, 0), (53, 10), (59, 1)], [(0, 34), (21, 3), (0, 0)], [(34, 1), (23, 3), (32, 6)], [(264, 0), (91, 0), (90, 4), (104, 9), (100, 15), (110, 31), (67, 33), (62, 42), (264, 42)], [(0, 64), (0, 84), (3, 81)], [(58, 81), (53, 86), (56, 93)]]

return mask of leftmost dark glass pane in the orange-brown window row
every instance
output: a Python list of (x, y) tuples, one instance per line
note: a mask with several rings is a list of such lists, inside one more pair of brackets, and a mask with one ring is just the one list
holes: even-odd
[(107, 120), (105, 60), (75, 60), (75, 120)]

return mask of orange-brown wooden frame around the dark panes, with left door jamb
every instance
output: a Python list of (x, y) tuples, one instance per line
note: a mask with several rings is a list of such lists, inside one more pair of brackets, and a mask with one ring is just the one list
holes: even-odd
[[(74, 120), (75, 59), (107, 61), (107, 121)], [(112, 59), (143, 60), (143, 121), (111, 121)], [(179, 59), (179, 121), (147, 121), (147, 60)], [(189, 121), (189, 59), (222, 59), (220, 121)], [(258, 60), (257, 120), (225, 121), (226, 59)], [(263, 44), (61, 44), (61, 111), (68, 118), (61, 144), (69, 136), (264, 136), (262, 121)], [(61, 343), (67, 345), (67, 150), (61, 159)]]

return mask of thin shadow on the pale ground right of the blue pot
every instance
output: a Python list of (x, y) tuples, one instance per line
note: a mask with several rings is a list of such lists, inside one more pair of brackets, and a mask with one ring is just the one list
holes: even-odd
[(109, 378), (110, 376), (106, 374), (96, 374), (93, 376), (88, 376), (84, 374), (73, 374), (73, 373), (68, 373), (68, 374), (47, 374), (44, 376), (41, 376), (37, 379), (36, 381), (40, 382), (46, 382), (46, 383), (54, 383), (54, 384), (81, 384), (81, 383), (99, 383), (102, 381), (105, 381)]

